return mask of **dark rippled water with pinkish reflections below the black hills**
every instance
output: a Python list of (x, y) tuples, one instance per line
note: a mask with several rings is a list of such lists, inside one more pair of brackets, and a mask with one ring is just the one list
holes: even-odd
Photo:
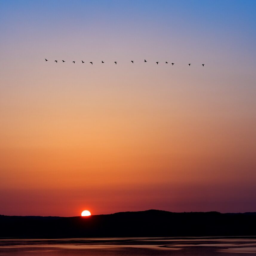
[(0, 239), (6, 256), (256, 255), (256, 237)]

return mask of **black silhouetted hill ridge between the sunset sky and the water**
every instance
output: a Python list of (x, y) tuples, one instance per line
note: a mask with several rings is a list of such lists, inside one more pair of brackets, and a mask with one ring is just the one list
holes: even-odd
[(256, 235), (256, 213), (129, 211), (90, 217), (0, 215), (0, 237), (171, 237)]

